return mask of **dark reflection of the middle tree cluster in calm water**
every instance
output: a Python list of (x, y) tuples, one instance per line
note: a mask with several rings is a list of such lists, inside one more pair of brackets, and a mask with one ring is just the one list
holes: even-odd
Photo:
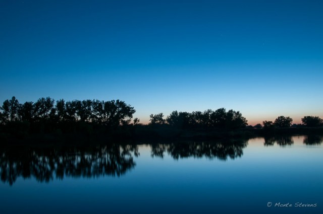
[(164, 158), (168, 153), (174, 159), (180, 158), (218, 158), (227, 160), (235, 159), (243, 155), (243, 149), (247, 146), (247, 140), (219, 141), (219, 142), (176, 142), (172, 144), (151, 144), (151, 157)]

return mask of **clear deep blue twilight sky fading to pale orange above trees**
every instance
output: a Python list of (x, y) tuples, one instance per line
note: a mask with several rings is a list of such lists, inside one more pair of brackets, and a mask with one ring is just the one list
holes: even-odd
[(0, 103), (123, 100), (147, 123), (323, 118), (323, 1), (0, 0)]

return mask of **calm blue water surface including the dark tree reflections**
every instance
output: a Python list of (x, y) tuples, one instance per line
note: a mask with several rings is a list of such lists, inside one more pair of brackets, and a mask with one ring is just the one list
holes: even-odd
[(2, 149), (0, 213), (323, 213), (322, 140)]

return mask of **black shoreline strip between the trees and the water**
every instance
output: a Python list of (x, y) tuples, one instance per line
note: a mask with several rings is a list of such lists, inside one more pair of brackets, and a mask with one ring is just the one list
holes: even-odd
[[(74, 124), (75, 125), (75, 124)], [(41, 131), (22, 122), (0, 126), (0, 145), (106, 145), (113, 143), (138, 144), (138, 142), (160, 141), (212, 141), (250, 139), (254, 137), (272, 137), (288, 135), (322, 135), (323, 127), (289, 127), (289, 128), (240, 128), (234, 130), (219, 128), (182, 129), (163, 125), (126, 125), (116, 128), (76, 124), (68, 130), (56, 127)], [(71, 130), (72, 129), (72, 130)], [(35, 131), (36, 130), (36, 131)]]

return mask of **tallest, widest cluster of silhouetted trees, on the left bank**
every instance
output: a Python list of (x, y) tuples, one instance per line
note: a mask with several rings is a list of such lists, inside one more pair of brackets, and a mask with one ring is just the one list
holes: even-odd
[[(6, 100), (0, 107), (0, 123), (26, 121), (30, 123), (53, 122), (95, 122), (107, 126), (128, 124), (135, 109), (120, 100), (73, 100), (56, 101), (47, 97), (37, 102), (20, 104), (15, 97)], [(138, 119), (136, 119), (138, 121)], [(139, 122), (139, 121), (138, 121)]]

